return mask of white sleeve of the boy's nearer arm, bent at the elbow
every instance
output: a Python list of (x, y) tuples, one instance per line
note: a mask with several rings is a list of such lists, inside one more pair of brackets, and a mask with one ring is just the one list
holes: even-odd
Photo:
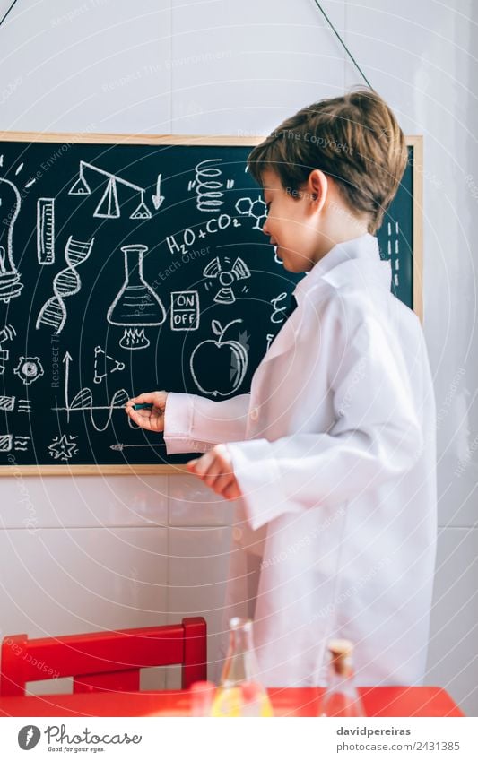
[(332, 427), (228, 446), (254, 529), (286, 512), (334, 508), (366, 494), (406, 474), (422, 453), (422, 431), (399, 346), (391, 345), (390, 335), (371, 318), (350, 339), (343, 333), (335, 325), (321, 350), (330, 367)]

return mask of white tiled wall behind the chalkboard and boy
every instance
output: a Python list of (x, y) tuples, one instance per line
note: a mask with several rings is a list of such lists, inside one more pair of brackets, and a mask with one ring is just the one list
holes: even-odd
[[(10, 2), (0, 2), (4, 13)], [(424, 330), (439, 411), (428, 682), (478, 715), (478, 5), (329, 0), (405, 132), (423, 134)], [(270, 131), (361, 82), (313, 3), (39, 0), (1, 30), (0, 128)], [(0, 629), (67, 633), (204, 611), (217, 653), (230, 506), (190, 477), (0, 482)], [(152, 672), (145, 686), (177, 683)]]

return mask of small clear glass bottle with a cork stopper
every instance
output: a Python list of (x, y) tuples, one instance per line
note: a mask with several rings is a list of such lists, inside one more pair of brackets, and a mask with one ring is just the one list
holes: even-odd
[(353, 681), (353, 645), (348, 639), (331, 640), (328, 644), (329, 670), (326, 692), (320, 705), (320, 716), (365, 716), (361, 698)]

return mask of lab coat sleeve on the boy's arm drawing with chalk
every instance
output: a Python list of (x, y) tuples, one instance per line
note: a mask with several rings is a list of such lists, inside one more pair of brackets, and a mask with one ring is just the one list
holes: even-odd
[(164, 415), (168, 454), (207, 452), (215, 444), (246, 437), (249, 394), (212, 402), (191, 393), (169, 393)]

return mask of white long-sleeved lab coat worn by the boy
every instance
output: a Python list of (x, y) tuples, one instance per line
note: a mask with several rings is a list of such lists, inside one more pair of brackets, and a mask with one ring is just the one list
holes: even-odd
[(238, 500), (227, 613), (253, 615), (268, 686), (321, 684), (331, 636), (363, 685), (422, 680), (436, 541), (435, 402), (417, 316), (370, 235), (335, 246), (252, 380), (171, 393), (169, 454), (229, 444)]

